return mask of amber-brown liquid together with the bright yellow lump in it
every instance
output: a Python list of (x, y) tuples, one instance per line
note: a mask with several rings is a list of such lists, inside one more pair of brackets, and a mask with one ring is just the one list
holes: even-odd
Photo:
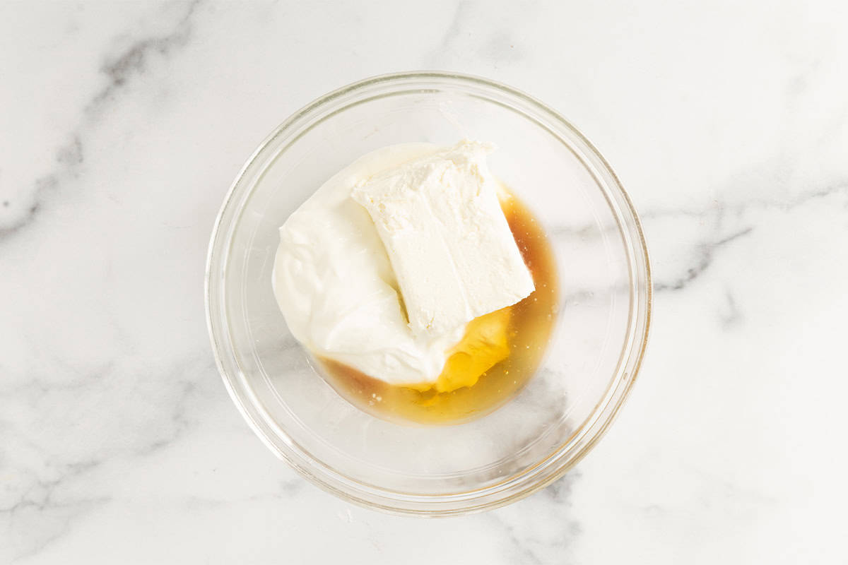
[(533, 274), (533, 294), (472, 320), (434, 385), (389, 385), (342, 363), (319, 359), (327, 381), (339, 394), (378, 418), (455, 424), (491, 412), (521, 390), (548, 345), (558, 285), (554, 255), (542, 226), (515, 197), (501, 202), (501, 208)]

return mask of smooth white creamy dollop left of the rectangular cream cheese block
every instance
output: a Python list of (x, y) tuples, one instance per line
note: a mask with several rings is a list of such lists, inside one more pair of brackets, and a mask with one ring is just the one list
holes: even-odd
[(412, 334), (397, 280), (354, 186), (438, 151), (428, 143), (378, 149), (333, 175), (280, 228), (273, 287), (294, 337), (310, 351), (402, 385), (432, 382), (463, 327)]

